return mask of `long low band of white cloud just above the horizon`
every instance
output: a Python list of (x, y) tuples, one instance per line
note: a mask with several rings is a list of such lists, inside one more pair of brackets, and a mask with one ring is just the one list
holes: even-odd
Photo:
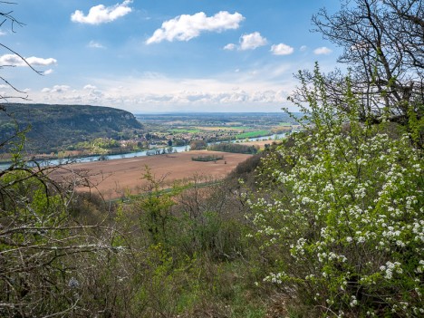
[[(271, 82), (249, 72), (228, 72), (221, 78), (194, 79), (142, 76), (115, 80), (92, 79), (92, 83), (73, 90), (67, 85), (54, 85), (34, 92), (37, 102), (105, 105), (134, 112), (191, 110), (261, 111), (261, 107), (279, 111), (286, 104), (293, 82)], [(259, 76), (258, 76), (259, 75)], [(101, 89), (99, 89), (101, 88)]]

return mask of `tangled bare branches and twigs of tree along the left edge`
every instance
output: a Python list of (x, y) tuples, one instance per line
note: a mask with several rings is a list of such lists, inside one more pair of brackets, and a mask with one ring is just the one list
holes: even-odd
[[(23, 26), (8, 7), (14, 3), (0, 1), (0, 26)], [(34, 72), (25, 58), (4, 43), (0, 47), (14, 53)], [(14, 65), (0, 65), (0, 70)], [(25, 92), (15, 88), (4, 76), (0, 81), (14, 90), (11, 96), (0, 95), (0, 101), (24, 99)], [(62, 185), (51, 178), (62, 167), (43, 167), (23, 156), (25, 133), (0, 105), (0, 113), (9, 116), (14, 132), (0, 136), (0, 152), (11, 152), (12, 162), (0, 169), (0, 316), (53, 317), (93, 316), (83, 304), (87, 268), (92, 268), (105, 255), (125, 250), (113, 244), (117, 232), (113, 226), (86, 225), (71, 215), (77, 182)], [(83, 177), (83, 176), (82, 176)], [(81, 261), (82, 255), (92, 264)], [(101, 313), (97, 311), (95, 314)]]

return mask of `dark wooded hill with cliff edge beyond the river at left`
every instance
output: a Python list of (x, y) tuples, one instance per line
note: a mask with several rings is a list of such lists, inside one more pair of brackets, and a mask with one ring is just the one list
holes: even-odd
[[(12, 136), (14, 120), (30, 127), (26, 148), (31, 152), (55, 152), (94, 138), (127, 139), (142, 125), (129, 111), (88, 105), (1, 104), (0, 142)], [(2, 149), (0, 149), (1, 151)], [(4, 149), (3, 149), (4, 150)]]

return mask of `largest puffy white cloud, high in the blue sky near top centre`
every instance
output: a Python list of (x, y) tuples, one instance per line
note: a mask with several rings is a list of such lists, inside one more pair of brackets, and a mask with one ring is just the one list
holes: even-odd
[(237, 29), (245, 17), (242, 14), (230, 14), (220, 11), (208, 17), (205, 13), (178, 15), (174, 19), (165, 21), (146, 41), (147, 44), (160, 43), (164, 40), (172, 42), (189, 41), (200, 35), (201, 32), (222, 32), (228, 29)]

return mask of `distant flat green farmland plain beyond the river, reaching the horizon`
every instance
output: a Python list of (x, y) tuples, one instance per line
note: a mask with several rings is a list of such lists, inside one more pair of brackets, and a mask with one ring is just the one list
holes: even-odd
[(184, 146), (192, 140), (244, 140), (290, 131), (297, 122), (286, 113), (168, 113), (136, 114), (147, 132), (148, 145)]

